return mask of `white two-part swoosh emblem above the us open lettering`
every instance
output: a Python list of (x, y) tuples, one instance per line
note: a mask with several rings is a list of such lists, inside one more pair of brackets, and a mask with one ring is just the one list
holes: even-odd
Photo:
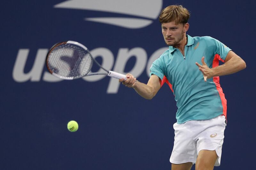
[(148, 26), (158, 18), (162, 9), (162, 4), (162, 0), (154, 0), (150, 2), (148, 0), (68, 0), (54, 5), (54, 8), (125, 14), (129, 15), (129, 17), (94, 17), (84, 18), (84, 20), (138, 29)]

